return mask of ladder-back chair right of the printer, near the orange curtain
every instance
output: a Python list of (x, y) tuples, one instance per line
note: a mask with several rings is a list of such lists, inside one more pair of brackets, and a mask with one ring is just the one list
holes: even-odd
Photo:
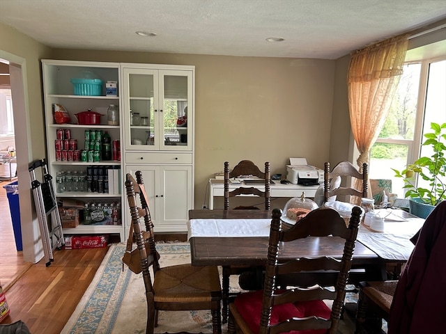
[[(353, 180), (347, 180), (351, 184), (355, 184), (355, 179), (360, 180), (361, 186), (339, 186), (335, 189), (330, 188), (330, 180), (334, 177), (341, 178), (352, 177)], [(324, 184), (324, 202), (328, 202), (332, 196), (356, 196), (356, 200), (350, 198), (351, 203), (360, 203), (361, 198), (367, 197), (369, 189), (369, 166), (362, 164), (362, 173), (360, 173), (350, 161), (341, 161), (332, 170), (330, 170), (330, 162), (325, 162), (323, 170)]]

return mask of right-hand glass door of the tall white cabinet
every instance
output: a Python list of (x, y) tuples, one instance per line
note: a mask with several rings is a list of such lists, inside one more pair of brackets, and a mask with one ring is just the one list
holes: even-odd
[(181, 150), (191, 147), (192, 113), (188, 112), (192, 100), (192, 76), (188, 71), (160, 71), (162, 92), (161, 140), (164, 150)]

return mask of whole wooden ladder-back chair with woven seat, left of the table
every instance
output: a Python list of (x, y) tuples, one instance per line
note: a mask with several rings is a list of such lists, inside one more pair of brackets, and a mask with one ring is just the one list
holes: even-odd
[[(217, 267), (192, 267), (191, 264), (160, 266), (158, 261), (160, 256), (156, 250), (153, 223), (148, 208), (144, 181), (141, 172), (138, 171), (136, 175), (138, 181), (134, 180), (131, 174), (126, 175), (125, 190), (146, 289), (146, 333), (154, 333), (159, 310), (210, 310), (213, 334), (221, 334), (222, 289)], [(141, 207), (137, 206), (136, 193), (141, 196)], [(144, 240), (141, 224), (139, 223), (141, 216), (144, 216), (146, 229), (149, 232), (148, 248), (145, 246), (146, 240)], [(150, 267), (153, 269), (153, 277), (151, 271), (149, 271)]]

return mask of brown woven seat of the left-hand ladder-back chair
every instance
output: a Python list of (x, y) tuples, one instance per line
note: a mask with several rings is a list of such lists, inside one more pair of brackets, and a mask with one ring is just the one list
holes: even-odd
[(154, 282), (155, 303), (206, 303), (222, 293), (217, 267), (165, 267), (155, 273)]

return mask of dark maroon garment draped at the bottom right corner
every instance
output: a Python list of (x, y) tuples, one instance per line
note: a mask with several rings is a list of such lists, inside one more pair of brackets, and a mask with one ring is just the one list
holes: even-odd
[(395, 291), (388, 334), (446, 333), (446, 201), (426, 218)]

